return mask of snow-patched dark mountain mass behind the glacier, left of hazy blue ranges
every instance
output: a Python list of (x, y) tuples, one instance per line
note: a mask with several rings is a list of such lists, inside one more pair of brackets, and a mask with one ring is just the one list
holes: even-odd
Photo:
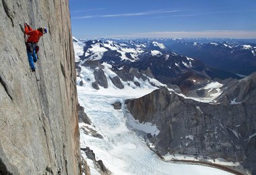
[[(77, 49), (77, 65), (91, 65), (96, 61), (107, 63), (121, 79), (131, 80), (139, 73), (137, 77), (147, 75), (161, 83), (178, 85), (184, 93), (198, 89), (199, 85), (206, 85), (212, 77), (226, 73), (212, 70), (198, 59), (168, 51), (164, 44), (154, 40), (74, 40), (74, 44), (75, 48), (80, 47)], [(232, 73), (229, 75), (239, 78)]]

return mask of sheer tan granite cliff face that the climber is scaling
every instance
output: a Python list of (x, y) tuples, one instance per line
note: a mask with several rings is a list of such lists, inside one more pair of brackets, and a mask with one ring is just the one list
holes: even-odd
[[(79, 174), (69, 2), (1, 0), (0, 16), (0, 174)], [(49, 30), (38, 43), (36, 73), (24, 22)]]

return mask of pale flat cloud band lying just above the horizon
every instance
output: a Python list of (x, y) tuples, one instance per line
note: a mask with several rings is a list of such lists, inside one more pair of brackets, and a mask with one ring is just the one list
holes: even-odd
[(256, 31), (203, 30), (193, 32), (142, 32), (105, 36), (104, 38), (256, 38)]

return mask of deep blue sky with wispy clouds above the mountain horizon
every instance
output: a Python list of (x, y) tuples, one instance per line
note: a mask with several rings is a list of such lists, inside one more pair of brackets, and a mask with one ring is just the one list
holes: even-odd
[(76, 38), (256, 38), (256, 0), (69, 0)]

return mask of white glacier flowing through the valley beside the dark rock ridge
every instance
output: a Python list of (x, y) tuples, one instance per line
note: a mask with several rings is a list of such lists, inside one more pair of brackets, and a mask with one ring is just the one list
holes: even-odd
[[(146, 92), (139, 91), (135, 95), (129, 91), (119, 90), (123, 93), (96, 94), (96, 92), (80, 86), (77, 86), (77, 90), (79, 103), (84, 106), (86, 114), (96, 126), (96, 131), (104, 137), (104, 139), (99, 139), (85, 135), (81, 131), (81, 147), (90, 147), (96, 154), (96, 160), (102, 160), (113, 174), (230, 174), (206, 166), (164, 162), (150, 150), (135, 131), (128, 129), (124, 100), (131, 96), (143, 96), (147, 94)], [(117, 100), (122, 102), (121, 110), (115, 110), (111, 105)], [(148, 125), (150, 124), (147, 124), (146, 127)], [(139, 127), (139, 129), (141, 128)], [(83, 151), (82, 155), (84, 155)], [(98, 175), (92, 161), (88, 160), (88, 165), (91, 174)]]

